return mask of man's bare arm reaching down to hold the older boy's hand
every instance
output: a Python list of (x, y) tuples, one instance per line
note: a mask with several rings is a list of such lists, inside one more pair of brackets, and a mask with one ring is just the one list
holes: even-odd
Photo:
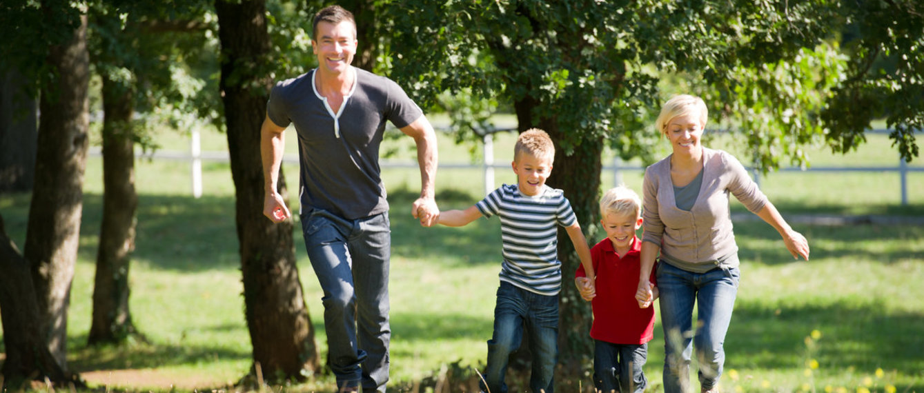
[(411, 215), (420, 220), (420, 225), (430, 227), (440, 217), (440, 208), (436, 206), (434, 188), (436, 181), (436, 132), (427, 117), (420, 117), (409, 125), (401, 127), (401, 132), (414, 138), (417, 144), (417, 163), (420, 168), (420, 197), (411, 207)]

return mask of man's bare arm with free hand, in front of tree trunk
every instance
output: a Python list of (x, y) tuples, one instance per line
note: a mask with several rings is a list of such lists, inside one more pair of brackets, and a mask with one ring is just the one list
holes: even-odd
[(286, 127), (281, 127), (267, 115), (260, 127), (260, 156), (263, 163), (263, 215), (274, 222), (292, 217), (286, 208), (286, 201), (276, 192), (279, 183), (279, 168), (283, 164), (286, 148)]

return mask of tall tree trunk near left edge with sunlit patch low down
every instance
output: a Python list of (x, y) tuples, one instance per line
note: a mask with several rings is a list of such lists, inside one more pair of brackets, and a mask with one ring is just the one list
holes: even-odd
[[(62, 11), (44, 6), (46, 18)], [(67, 307), (74, 278), (83, 208), (83, 172), (87, 164), (89, 125), (87, 89), (87, 17), (73, 38), (52, 45), (47, 63), (55, 70), (42, 92), (39, 149), (24, 247), (30, 262), (48, 348), (67, 369)], [(49, 26), (53, 21), (47, 21)]]

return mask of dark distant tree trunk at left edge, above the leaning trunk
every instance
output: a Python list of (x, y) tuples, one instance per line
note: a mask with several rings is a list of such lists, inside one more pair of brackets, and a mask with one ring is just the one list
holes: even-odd
[(15, 70), (0, 75), (0, 193), (32, 190), (38, 133), (26, 85)]

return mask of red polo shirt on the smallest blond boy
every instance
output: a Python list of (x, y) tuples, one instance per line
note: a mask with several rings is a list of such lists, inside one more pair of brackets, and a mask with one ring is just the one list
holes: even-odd
[[(654, 338), (654, 305), (639, 308), (635, 294), (641, 271), (641, 242), (632, 239), (625, 256), (616, 255), (613, 242), (603, 239), (590, 249), (593, 269), (597, 272), (597, 297), (591, 301), (593, 325), (590, 337), (613, 344), (644, 344)], [(651, 282), (655, 282), (651, 269)], [(587, 277), (578, 266), (575, 278)]]

